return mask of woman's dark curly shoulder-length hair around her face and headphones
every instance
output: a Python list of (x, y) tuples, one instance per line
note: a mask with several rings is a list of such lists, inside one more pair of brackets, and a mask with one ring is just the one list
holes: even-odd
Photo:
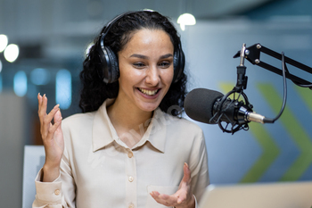
[[(103, 34), (105, 27), (100, 34)], [(180, 45), (180, 37), (177, 29), (168, 21), (167, 17), (159, 12), (139, 11), (129, 12), (114, 22), (104, 38), (104, 45), (110, 46), (111, 50), (118, 54), (133, 36), (133, 32), (139, 29), (161, 29), (166, 31), (174, 46), (174, 50)], [(83, 62), (83, 71), (80, 72), (82, 90), (80, 94), (79, 107), (82, 112), (94, 112), (103, 104), (107, 98), (118, 96), (119, 82), (106, 84), (98, 75), (102, 69), (99, 54), (96, 46), (99, 46), (101, 35), (94, 39), (94, 46), (89, 50), (85, 61)], [(118, 57), (118, 56), (117, 56)], [(172, 82), (168, 93), (160, 103), (160, 109), (177, 116), (183, 111), (183, 105), (186, 95), (186, 75), (183, 72), (180, 79)], [(170, 108), (171, 107), (171, 108)]]

